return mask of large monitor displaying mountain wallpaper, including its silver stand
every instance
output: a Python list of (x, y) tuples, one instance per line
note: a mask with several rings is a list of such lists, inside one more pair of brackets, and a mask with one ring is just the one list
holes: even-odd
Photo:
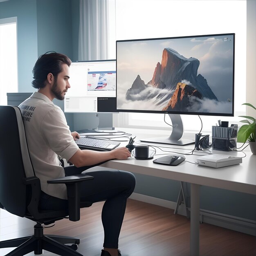
[(168, 138), (186, 145), (180, 115), (234, 116), (235, 34), (117, 40), (117, 111), (166, 113)]

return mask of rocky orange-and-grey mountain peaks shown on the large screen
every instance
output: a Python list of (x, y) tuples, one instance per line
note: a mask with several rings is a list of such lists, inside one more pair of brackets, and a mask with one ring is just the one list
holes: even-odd
[[(138, 74), (126, 92), (126, 99), (147, 101), (156, 97), (159, 110), (184, 112), (192, 105), (195, 108), (195, 103), (204, 98), (218, 101), (207, 80), (198, 74), (199, 65), (197, 58), (185, 58), (174, 49), (164, 48), (161, 64), (157, 63), (152, 79), (145, 84)], [(158, 90), (141, 93), (149, 87)]]

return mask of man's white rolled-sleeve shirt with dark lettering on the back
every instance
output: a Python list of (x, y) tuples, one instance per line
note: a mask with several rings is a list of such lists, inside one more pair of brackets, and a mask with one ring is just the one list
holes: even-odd
[(79, 149), (63, 111), (40, 92), (34, 92), (19, 108), (31, 162), (36, 177), (40, 179), (41, 190), (48, 195), (67, 199), (65, 184), (47, 184), (47, 180), (65, 176), (58, 155), (68, 160)]

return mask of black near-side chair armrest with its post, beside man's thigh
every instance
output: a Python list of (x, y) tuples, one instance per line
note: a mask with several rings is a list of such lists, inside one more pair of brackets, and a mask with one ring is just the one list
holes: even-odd
[(49, 184), (66, 184), (69, 219), (71, 221), (80, 220), (81, 182), (92, 179), (94, 179), (94, 177), (80, 173), (77, 175), (47, 180), (47, 183)]

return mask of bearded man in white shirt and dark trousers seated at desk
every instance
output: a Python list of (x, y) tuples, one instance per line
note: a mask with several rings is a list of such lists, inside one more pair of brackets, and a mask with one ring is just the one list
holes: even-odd
[[(65, 184), (47, 184), (47, 180), (65, 175), (81, 173), (85, 166), (97, 165), (110, 159), (128, 159), (127, 148), (116, 148), (109, 152), (81, 150), (76, 145), (78, 132), (70, 132), (63, 111), (54, 103), (54, 98), (63, 100), (70, 88), (70, 59), (56, 52), (41, 55), (33, 68), (32, 85), (38, 89), (20, 104), (25, 124), (31, 161), (36, 176), (40, 179), (41, 209), (63, 209), (67, 207)], [(63, 168), (58, 155), (74, 166)], [(102, 209), (104, 243), (101, 256), (121, 255), (118, 238), (123, 222), (126, 200), (135, 188), (132, 173), (98, 168), (86, 171), (94, 177), (82, 183), (81, 201), (106, 200)]]

